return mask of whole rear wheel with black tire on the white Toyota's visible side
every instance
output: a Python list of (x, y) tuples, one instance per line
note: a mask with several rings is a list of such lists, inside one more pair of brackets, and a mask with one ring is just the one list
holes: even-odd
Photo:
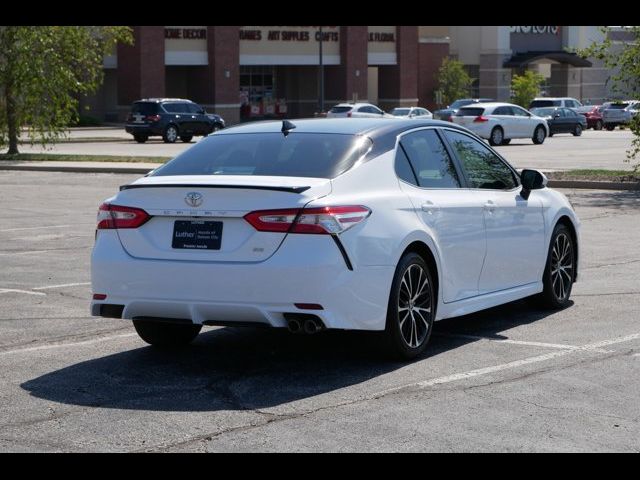
[(420, 355), (431, 338), (435, 313), (429, 266), (417, 253), (407, 253), (396, 267), (389, 295), (384, 333), (389, 354), (403, 360)]

